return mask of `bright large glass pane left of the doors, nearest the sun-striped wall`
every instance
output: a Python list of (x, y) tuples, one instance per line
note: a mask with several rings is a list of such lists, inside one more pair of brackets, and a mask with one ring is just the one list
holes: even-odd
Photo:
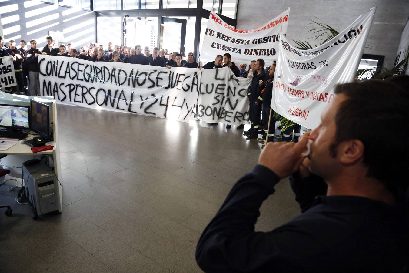
[(121, 25), (122, 17), (97, 17), (97, 44), (103, 45), (106, 49), (108, 43), (113, 45), (121, 45)]

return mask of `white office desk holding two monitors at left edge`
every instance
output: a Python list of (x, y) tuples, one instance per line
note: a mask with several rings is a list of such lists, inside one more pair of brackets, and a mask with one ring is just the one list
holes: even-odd
[[(52, 142), (47, 142), (47, 145), (54, 145), (52, 150), (48, 151), (41, 151), (38, 153), (33, 153), (31, 151), (31, 147), (29, 147), (26, 144), (20, 144), (17, 143), (16, 145), (10, 147), (7, 150), (0, 151), (0, 153), (5, 153), (9, 156), (13, 155), (18, 155), (18, 156), (24, 156), (24, 155), (49, 155), (50, 161), (53, 162), (54, 164), (54, 173), (57, 177), (57, 179), (60, 181), (59, 183), (62, 184), (61, 182), (61, 162), (60, 162), (60, 149), (58, 147), (58, 122), (57, 122), (57, 110), (56, 110), (56, 102), (53, 97), (34, 97), (34, 96), (23, 96), (23, 95), (12, 95), (12, 94), (7, 94), (0, 92), (0, 104), (11, 104), (11, 105), (21, 105), (21, 106), (29, 106), (30, 105), (30, 99), (37, 100), (39, 102), (43, 102), (45, 104), (49, 104), (52, 106), (50, 108), (50, 122), (53, 122), (53, 128), (54, 128), (54, 141)], [(30, 139), (32, 137), (27, 137), (27, 139)], [(57, 205), (58, 205), (58, 211), (62, 212), (62, 187), (61, 185), (57, 183)]]

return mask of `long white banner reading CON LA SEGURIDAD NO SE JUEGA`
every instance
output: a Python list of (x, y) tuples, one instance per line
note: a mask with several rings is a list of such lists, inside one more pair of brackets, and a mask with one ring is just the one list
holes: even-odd
[(40, 90), (57, 103), (189, 122), (201, 71), (38, 56)]

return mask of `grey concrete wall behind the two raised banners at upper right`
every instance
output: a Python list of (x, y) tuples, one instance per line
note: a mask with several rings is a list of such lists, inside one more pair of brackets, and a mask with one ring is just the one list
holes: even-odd
[[(384, 55), (384, 66), (393, 67), (396, 52), (409, 16), (408, 0), (239, 0), (237, 28), (261, 25), (291, 6), (287, 37), (294, 40), (314, 36), (307, 26), (315, 16), (337, 31), (342, 31), (358, 16), (377, 6), (366, 54)], [(319, 44), (307, 39), (311, 45)]]

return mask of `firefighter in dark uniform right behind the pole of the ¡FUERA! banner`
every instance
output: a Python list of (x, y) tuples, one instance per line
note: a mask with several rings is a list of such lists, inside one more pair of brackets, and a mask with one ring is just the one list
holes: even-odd
[[(276, 61), (273, 62), (273, 65), (270, 66), (268, 70), (268, 77), (269, 79), (264, 84), (263, 90), (261, 90), (261, 97), (263, 98), (263, 127), (264, 127), (264, 134), (261, 138), (257, 138), (260, 142), (265, 142), (267, 138), (267, 142), (274, 140), (274, 131), (275, 131), (275, 119), (272, 117), (270, 118), (270, 127), (268, 127), (268, 120), (270, 117), (270, 108), (271, 108), (271, 99), (273, 95), (273, 87), (274, 87), (274, 72), (276, 70)], [(271, 116), (274, 115), (274, 111), (272, 110)], [(268, 128), (268, 132), (267, 132)]]

